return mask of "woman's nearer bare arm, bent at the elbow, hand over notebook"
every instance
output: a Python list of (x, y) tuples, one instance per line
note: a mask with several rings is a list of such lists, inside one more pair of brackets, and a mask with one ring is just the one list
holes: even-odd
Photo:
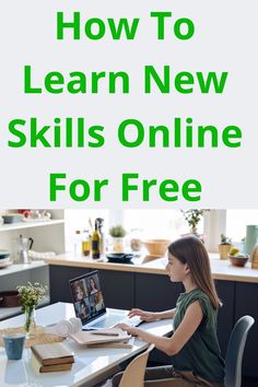
[(155, 336), (142, 329), (130, 327), (126, 324), (118, 325), (118, 328), (126, 330), (129, 335), (139, 336), (142, 340), (154, 343), (155, 347), (167, 355), (178, 353), (187, 341), (195, 333), (203, 317), (199, 301), (192, 303), (186, 310), (185, 317), (171, 338)]

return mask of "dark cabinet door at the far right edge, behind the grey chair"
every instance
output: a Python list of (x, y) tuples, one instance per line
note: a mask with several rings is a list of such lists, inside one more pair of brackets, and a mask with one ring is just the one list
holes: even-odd
[(249, 315), (255, 318), (246, 341), (243, 357), (243, 375), (258, 377), (257, 354), (258, 354), (258, 284), (236, 283), (236, 307), (235, 320), (242, 316)]

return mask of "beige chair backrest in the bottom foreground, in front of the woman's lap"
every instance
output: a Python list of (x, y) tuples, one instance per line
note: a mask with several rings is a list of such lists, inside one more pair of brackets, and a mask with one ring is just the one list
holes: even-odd
[(154, 344), (149, 345), (145, 352), (131, 361), (122, 374), (119, 387), (143, 387), (148, 357), (154, 347)]

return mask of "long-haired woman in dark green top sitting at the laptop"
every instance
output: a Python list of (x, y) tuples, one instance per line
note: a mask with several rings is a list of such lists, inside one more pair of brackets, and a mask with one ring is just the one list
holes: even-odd
[[(157, 337), (126, 324), (119, 328), (138, 336), (168, 354), (172, 365), (146, 368), (145, 385), (172, 387), (224, 385), (224, 361), (216, 338), (216, 314), (221, 306), (211, 278), (209, 256), (204, 245), (194, 236), (183, 237), (168, 246), (167, 273), (172, 282), (183, 282), (185, 293), (176, 307), (161, 313), (131, 309), (130, 317), (153, 321), (174, 318), (174, 335)], [(121, 373), (113, 377), (119, 384)], [(155, 382), (156, 380), (156, 382)]]

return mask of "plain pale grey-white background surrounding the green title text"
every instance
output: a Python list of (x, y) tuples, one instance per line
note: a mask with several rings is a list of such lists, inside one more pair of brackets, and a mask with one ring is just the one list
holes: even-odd
[[(256, 208), (257, 178), (257, 5), (256, 0), (216, 1), (2, 1), (0, 4), (0, 178), (2, 208)], [(156, 22), (151, 11), (171, 11), (165, 40), (156, 39)], [(106, 33), (101, 40), (80, 40), (66, 34), (56, 39), (56, 13), (72, 17), (81, 12), (81, 22), (90, 17), (140, 17), (134, 40), (113, 40)], [(189, 17), (195, 36), (178, 40), (173, 23)], [(83, 31), (83, 28), (82, 28)], [(31, 64), (33, 81), (39, 86), (49, 71), (68, 74), (82, 71), (126, 71), (130, 94), (109, 95), (107, 82), (96, 95), (25, 95), (23, 68)], [(143, 92), (143, 67), (172, 68), (172, 93), (151, 95)], [(223, 94), (184, 95), (173, 87), (176, 73), (189, 71), (228, 71)], [(11, 149), (7, 142), (9, 121), (37, 117), (51, 125), (55, 117), (85, 117), (86, 125), (103, 125), (106, 143), (99, 149)], [(148, 142), (136, 149), (122, 148), (117, 127), (126, 118), (137, 118), (148, 128), (166, 125), (174, 117), (192, 117), (196, 125), (227, 125), (242, 128), (241, 149), (149, 149)], [(27, 127), (28, 128), (28, 127)], [(28, 133), (28, 129), (26, 129)], [(13, 139), (13, 138), (12, 138)], [(49, 201), (49, 173), (67, 173), (68, 181), (84, 178), (108, 178), (102, 201), (75, 202), (68, 194)], [(196, 178), (202, 184), (201, 201), (190, 203), (181, 197), (165, 202), (153, 190), (150, 202), (143, 202), (141, 189), (121, 201), (121, 174), (139, 173), (142, 178), (176, 179), (183, 184)], [(139, 180), (140, 184), (140, 180)]]

